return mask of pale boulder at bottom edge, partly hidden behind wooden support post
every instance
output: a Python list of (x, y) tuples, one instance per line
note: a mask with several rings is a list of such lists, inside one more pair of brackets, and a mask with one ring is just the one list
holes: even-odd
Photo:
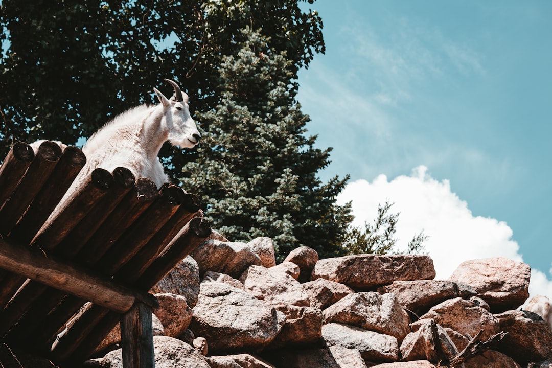
[[(153, 349), (156, 368), (210, 368), (192, 346), (167, 336), (154, 336)], [(88, 360), (85, 367), (123, 368), (121, 349), (110, 351), (103, 358)]]

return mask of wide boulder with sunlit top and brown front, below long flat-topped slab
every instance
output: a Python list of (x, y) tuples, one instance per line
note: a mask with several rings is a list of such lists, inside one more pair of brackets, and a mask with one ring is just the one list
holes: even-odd
[(326, 308), (325, 323), (351, 324), (390, 335), (400, 343), (410, 332), (410, 318), (393, 294), (357, 292)]

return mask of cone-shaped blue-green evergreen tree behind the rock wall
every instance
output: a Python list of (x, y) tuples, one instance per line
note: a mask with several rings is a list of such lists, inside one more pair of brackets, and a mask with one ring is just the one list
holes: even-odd
[(243, 34), (220, 66), (220, 103), (196, 115), (203, 139), (183, 167), (183, 187), (203, 195), (206, 217), (233, 241), (271, 237), (279, 260), (301, 245), (321, 257), (343, 254), (351, 209), (335, 199), (348, 178), (321, 183), (331, 149), (304, 135), (309, 117), (295, 99), (293, 64), (259, 33)]

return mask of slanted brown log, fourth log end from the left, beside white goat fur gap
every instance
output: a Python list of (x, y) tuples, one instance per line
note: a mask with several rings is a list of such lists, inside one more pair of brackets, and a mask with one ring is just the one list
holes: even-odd
[(54, 249), (75, 228), (79, 221), (113, 185), (113, 175), (104, 169), (95, 169), (75, 197), (63, 208), (57, 208), (31, 241), (31, 245)]

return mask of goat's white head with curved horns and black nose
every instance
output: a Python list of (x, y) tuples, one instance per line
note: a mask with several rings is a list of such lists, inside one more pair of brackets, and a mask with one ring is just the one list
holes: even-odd
[(188, 95), (182, 92), (176, 82), (171, 79), (165, 79), (165, 81), (171, 83), (174, 88), (174, 95), (171, 99), (166, 98), (157, 88), (153, 88), (153, 91), (163, 105), (168, 141), (173, 146), (192, 148), (198, 145), (201, 135), (190, 116)]

